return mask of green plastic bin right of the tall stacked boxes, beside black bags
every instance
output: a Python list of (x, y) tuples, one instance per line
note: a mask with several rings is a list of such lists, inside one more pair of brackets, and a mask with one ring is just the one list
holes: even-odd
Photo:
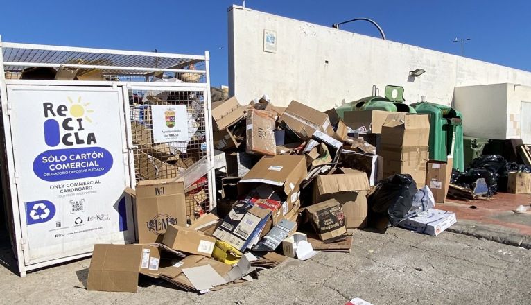
[(457, 110), (421, 101), (412, 104), (417, 113), (430, 114), (430, 159), (446, 161), (453, 155), (453, 168), (464, 171), (462, 115)]

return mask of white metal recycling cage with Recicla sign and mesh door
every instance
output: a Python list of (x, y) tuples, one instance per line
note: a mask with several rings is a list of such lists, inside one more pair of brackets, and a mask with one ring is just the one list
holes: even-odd
[[(1, 39), (0, 51), (0, 173), (21, 276), (89, 256), (94, 243), (134, 242), (124, 189), (138, 180), (184, 177), (189, 217), (214, 208), (208, 52)], [(37, 68), (63, 80), (24, 79)], [(64, 80), (76, 73), (84, 80)]]

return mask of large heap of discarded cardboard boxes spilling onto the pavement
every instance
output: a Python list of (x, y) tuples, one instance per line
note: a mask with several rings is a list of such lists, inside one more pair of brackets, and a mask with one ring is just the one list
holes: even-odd
[[(136, 291), (140, 274), (204, 293), (253, 281), (256, 268), (286, 257), (349, 252), (347, 229), (367, 226), (367, 194), (378, 180), (409, 173), (419, 187), (427, 181), (425, 115), (346, 112), (344, 122), (335, 110), (297, 101), (284, 108), (266, 98), (241, 105), (234, 97), (212, 103), (211, 113), (221, 177), (216, 209), (190, 218), (182, 180), (164, 177), (128, 189), (136, 199), (139, 244), (96, 245), (89, 290)], [(167, 153), (137, 144), (146, 155)], [(439, 171), (428, 175), (428, 185), (444, 201), (449, 177)], [(432, 234), (418, 225), (431, 221), (421, 217), (408, 227)]]

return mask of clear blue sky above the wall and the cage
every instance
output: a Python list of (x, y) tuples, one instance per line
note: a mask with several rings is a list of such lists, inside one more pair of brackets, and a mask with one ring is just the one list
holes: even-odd
[[(212, 85), (227, 85), (227, 8), (242, 1), (3, 1), (3, 41), (211, 54)], [(367, 17), (388, 40), (531, 71), (531, 1), (247, 0), (248, 8), (331, 26)], [(365, 22), (342, 30), (377, 36)]]

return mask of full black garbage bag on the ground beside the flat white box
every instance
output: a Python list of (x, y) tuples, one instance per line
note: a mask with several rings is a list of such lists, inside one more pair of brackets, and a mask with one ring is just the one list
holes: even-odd
[(417, 183), (411, 175), (395, 174), (387, 177), (378, 182), (374, 192), (367, 197), (369, 214), (385, 214), (391, 225), (396, 226), (408, 215), (415, 193)]

